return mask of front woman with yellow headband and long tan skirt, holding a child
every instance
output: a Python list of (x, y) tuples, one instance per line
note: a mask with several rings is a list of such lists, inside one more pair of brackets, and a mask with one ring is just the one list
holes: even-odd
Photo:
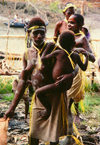
[[(28, 34), (28, 36), (32, 39), (33, 46), (28, 48), (27, 53), (25, 53), (28, 64), (27, 67), (21, 72), (14, 99), (10, 105), (10, 108), (5, 113), (5, 119), (14, 115), (16, 106), (23, 96), (27, 80), (30, 77), (32, 85), (35, 89), (42, 86), (42, 83), (40, 83), (43, 79), (42, 74), (37, 73), (41, 66), (40, 57), (51, 53), (52, 50), (55, 49), (54, 44), (45, 42), (46, 25), (41, 18), (35, 17), (29, 22)], [(48, 83), (52, 82), (51, 68), (52, 66), (49, 63), (49, 71), (47, 73), (48, 77), (46, 80)], [(73, 78), (73, 76), (75, 76), (75, 73), (69, 74), (68, 77), (66, 75), (66, 81), (69, 78)], [(64, 96), (61, 97), (61, 93), (59, 92), (52, 93), (50, 96), (47, 95), (47, 98), (52, 104), (51, 114), (47, 119), (44, 119), (41, 116), (41, 111), (45, 110), (44, 106), (41, 104), (36, 95), (34, 95), (34, 97), (30, 122), (29, 145), (38, 145), (39, 140), (50, 141), (51, 145), (56, 145), (59, 142), (59, 137), (67, 134), (67, 122), (65, 121), (66, 109), (64, 109), (65, 113), (62, 112), (62, 107), (66, 108), (66, 105), (62, 105)], [(62, 116), (63, 113), (65, 116)]]

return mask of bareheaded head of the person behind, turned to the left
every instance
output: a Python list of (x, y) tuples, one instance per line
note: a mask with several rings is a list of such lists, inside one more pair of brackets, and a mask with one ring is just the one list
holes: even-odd
[(71, 15), (68, 19), (68, 29), (74, 33), (79, 32), (84, 25), (84, 18), (80, 14)]

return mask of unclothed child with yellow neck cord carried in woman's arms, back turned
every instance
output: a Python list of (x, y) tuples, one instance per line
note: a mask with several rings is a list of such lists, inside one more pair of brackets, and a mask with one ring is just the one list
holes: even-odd
[(44, 112), (44, 114), (47, 113), (47, 115), (50, 115), (51, 108), (50, 105), (47, 105), (48, 100), (46, 101), (44, 98), (45, 95), (50, 94), (51, 92), (65, 92), (66, 90), (70, 89), (72, 85), (72, 79), (69, 79), (69, 81), (67, 80), (67, 82), (64, 81), (63, 84), (61, 83), (60, 85), (57, 85), (57, 78), (64, 74), (72, 73), (76, 64), (78, 64), (83, 71), (87, 69), (88, 65), (88, 53), (86, 53), (86, 51), (83, 51), (83, 54), (86, 58), (84, 63), (81, 61), (79, 54), (72, 51), (75, 45), (75, 37), (73, 32), (63, 32), (60, 35), (59, 43), (61, 48), (55, 50), (49, 55), (46, 55), (45, 57), (42, 57), (43, 70), (49, 67), (46, 66), (47, 62), (52, 62), (52, 59), (54, 59), (55, 63), (52, 69), (52, 78), (54, 83), (45, 85), (36, 90), (37, 97), (46, 108), (46, 112)]

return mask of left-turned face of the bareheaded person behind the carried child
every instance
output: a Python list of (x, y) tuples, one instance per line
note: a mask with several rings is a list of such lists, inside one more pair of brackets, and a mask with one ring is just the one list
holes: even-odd
[(75, 20), (75, 16), (71, 15), (68, 19), (68, 30), (73, 31), (74, 33), (79, 32), (79, 26)]

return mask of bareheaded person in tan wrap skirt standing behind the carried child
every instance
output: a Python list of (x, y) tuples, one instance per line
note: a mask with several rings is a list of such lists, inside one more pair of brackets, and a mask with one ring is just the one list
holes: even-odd
[[(78, 53), (81, 53), (82, 47), (84, 50), (89, 52), (89, 60), (91, 62), (95, 61), (95, 57), (92, 53), (91, 48), (89, 47), (88, 40), (86, 39), (86, 36), (81, 31), (82, 26), (84, 25), (84, 18), (80, 14), (74, 14), (71, 15), (68, 19), (68, 30), (72, 30), (75, 34), (75, 50)], [(81, 56), (83, 57), (83, 56)], [(78, 102), (84, 98), (84, 87), (82, 86), (82, 71), (79, 69), (79, 72), (77, 76), (73, 80), (73, 85), (71, 89), (68, 91), (68, 96), (72, 98), (76, 102), (76, 111), (77, 111), (77, 117), (79, 118), (79, 111), (78, 111)]]

